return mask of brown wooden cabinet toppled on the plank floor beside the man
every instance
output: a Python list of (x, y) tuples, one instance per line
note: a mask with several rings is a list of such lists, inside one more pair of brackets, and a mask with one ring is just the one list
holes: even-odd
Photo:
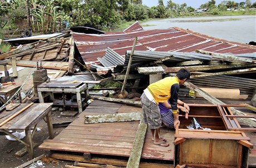
[[(193, 117), (201, 127), (211, 130), (186, 128)], [(181, 125), (175, 132), (174, 165), (248, 167), (249, 149), (253, 145), (229, 106), (190, 105), (189, 120), (182, 112), (179, 120)]]

